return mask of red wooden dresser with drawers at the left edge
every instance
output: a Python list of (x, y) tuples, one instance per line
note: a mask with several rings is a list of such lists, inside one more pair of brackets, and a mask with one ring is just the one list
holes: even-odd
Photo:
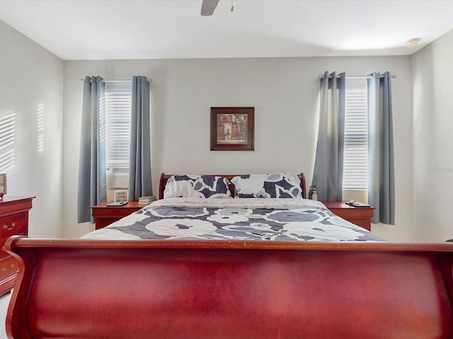
[(4, 196), (0, 200), (0, 295), (13, 288), (18, 270), (18, 262), (6, 253), (4, 244), (12, 235), (28, 235), (28, 211), (32, 207), (33, 198)]

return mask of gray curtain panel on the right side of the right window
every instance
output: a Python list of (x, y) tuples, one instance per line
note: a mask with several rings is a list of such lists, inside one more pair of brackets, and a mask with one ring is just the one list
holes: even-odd
[(395, 224), (394, 134), (390, 73), (368, 79), (368, 203), (373, 223)]

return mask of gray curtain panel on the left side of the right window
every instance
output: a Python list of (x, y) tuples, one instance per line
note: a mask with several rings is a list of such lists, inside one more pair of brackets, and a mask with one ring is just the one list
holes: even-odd
[(311, 184), (318, 200), (340, 201), (343, 195), (343, 149), (345, 144), (345, 73), (324, 73), (318, 143)]

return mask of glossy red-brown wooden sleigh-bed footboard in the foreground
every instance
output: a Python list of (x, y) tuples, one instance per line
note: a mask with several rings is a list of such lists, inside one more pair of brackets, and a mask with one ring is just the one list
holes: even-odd
[(452, 338), (453, 244), (14, 237), (9, 338)]

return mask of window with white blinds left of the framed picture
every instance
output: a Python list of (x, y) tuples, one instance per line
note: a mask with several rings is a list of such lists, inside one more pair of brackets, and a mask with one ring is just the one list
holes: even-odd
[(105, 86), (105, 167), (108, 188), (129, 182), (131, 88), (125, 83)]

